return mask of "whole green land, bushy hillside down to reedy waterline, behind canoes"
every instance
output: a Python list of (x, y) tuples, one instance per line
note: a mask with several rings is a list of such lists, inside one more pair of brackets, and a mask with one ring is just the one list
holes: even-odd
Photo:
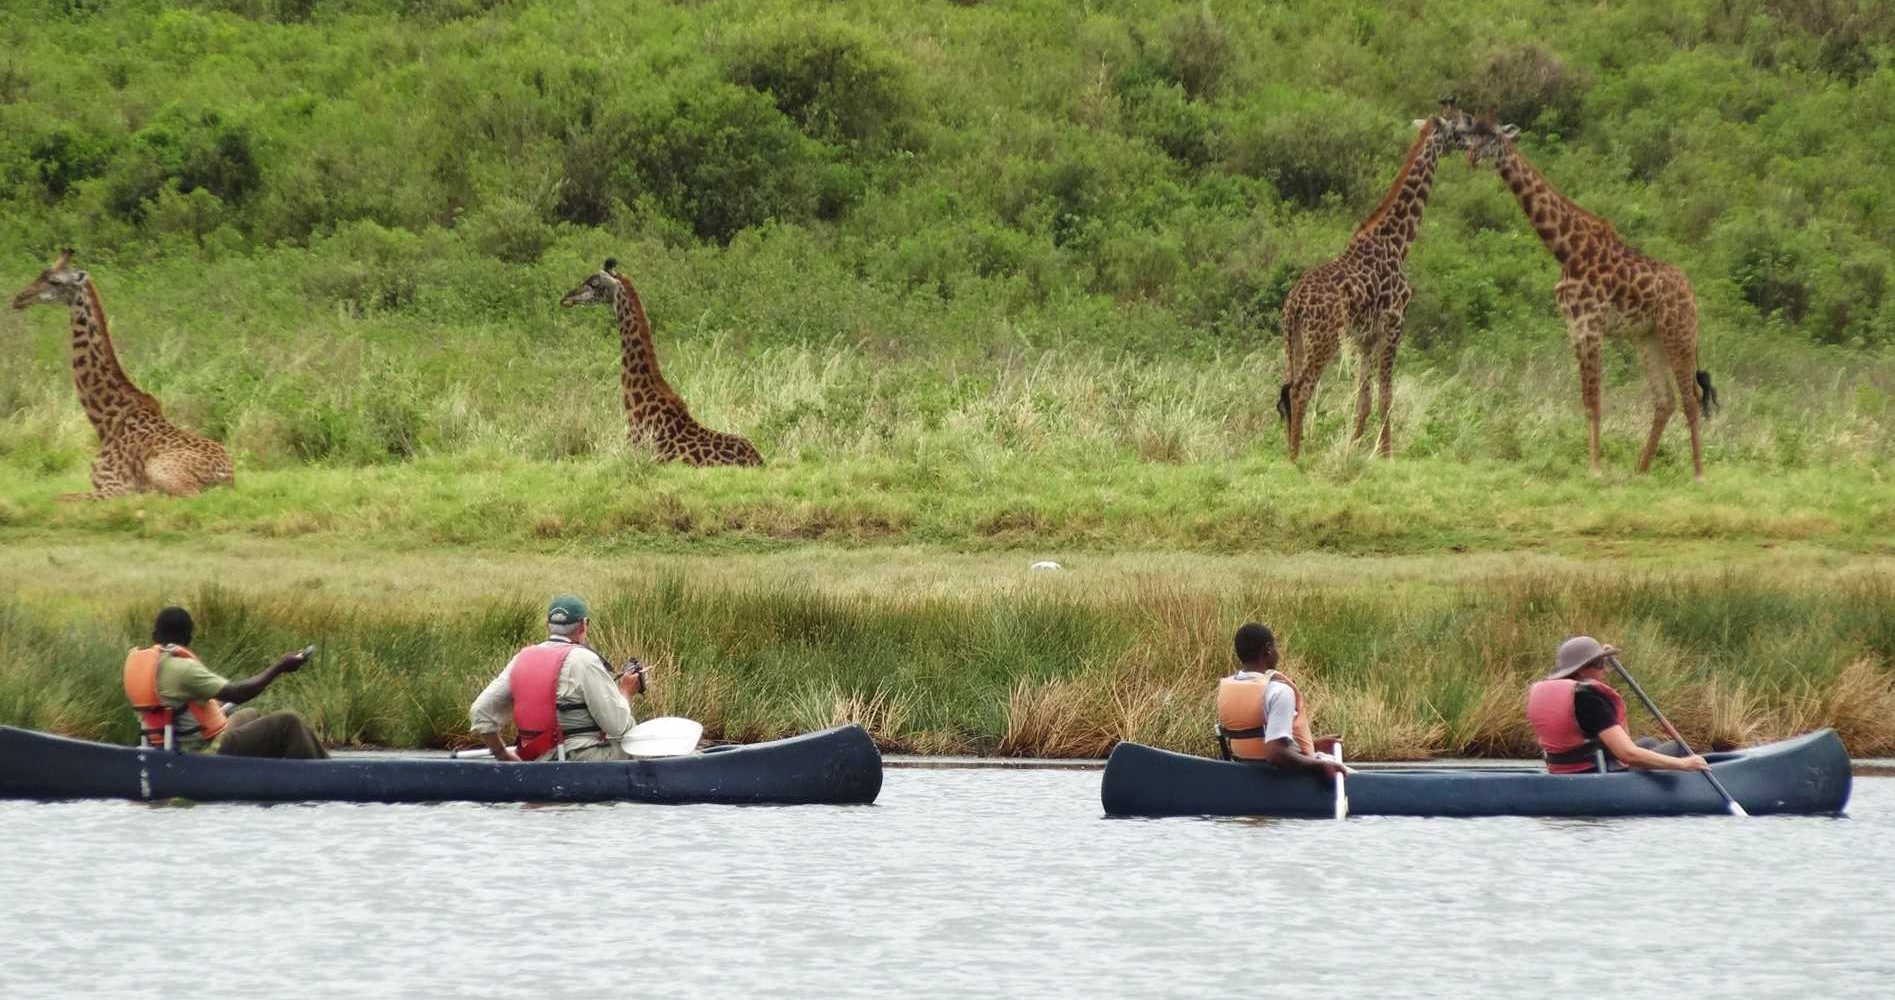
[[(1243, 617), (1357, 754), (1524, 750), (1569, 631), (1704, 741), (1887, 752), (1895, 19), (1872, 4), (887, 6), (21, 0), (0, 294), (59, 246), (237, 485), (59, 504), (66, 320), (0, 311), (0, 720), (125, 739), (123, 646), (193, 604), (335, 742), (434, 746), (586, 591), (658, 710), (891, 748), (1207, 750)], [(1607, 354), (1586, 470), (1556, 265), (1444, 161), (1393, 460), (1353, 362), (1283, 458), (1277, 314), (1436, 95), (1681, 267), (1724, 409), (1690, 483)], [(1768, 178), (1768, 184), (1759, 182)], [(625, 443), (606, 256), (764, 470)], [(1025, 574), (1052, 557), (1063, 574)]]

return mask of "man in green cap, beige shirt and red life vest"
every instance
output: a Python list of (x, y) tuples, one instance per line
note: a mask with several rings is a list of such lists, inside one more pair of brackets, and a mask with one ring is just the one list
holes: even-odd
[[(644, 667), (616, 680), (605, 657), (586, 646), (586, 602), (555, 597), (546, 608), (546, 642), (514, 653), (500, 676), (474, 699), (474, 735), (500, 761), (627, 759), (618, 741), (631, 729), (631, 699), (644, 693)], [(519, 744), (500, 742), (512, 722)]]

